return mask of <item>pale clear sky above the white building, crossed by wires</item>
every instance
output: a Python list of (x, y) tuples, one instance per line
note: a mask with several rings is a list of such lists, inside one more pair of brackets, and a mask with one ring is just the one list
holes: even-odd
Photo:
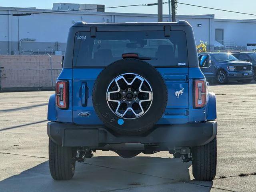
[[(168, 0), (163, 0), (163, 2)], [(131, 4), (155, 3), (157, 0), (0, 0), (2, 7), (36, 7), (42, 9), (52, 9), (53, 3), (78, 3), (78, 4), (105, 4), (105, 7), (124, 6)], [(195, 4), (200, 6), (232, 10), (256, 14), (256, 0), (178, 0), (178, 2)], [(111, 8), (106, 12), (126, 12), (126, 13), (149, 13), (156, 14), (157, 6), (138, 6), (130, 8)], [(168, 4), (163, 5), (163, 14), (168, 14)], [(223, 19), (256, 19), (256, 16), (222, 12), (206, 8), (197, 8), (178, 4), (177, 14), (179, 15), (202, 15), (215, 14), (215, 18)]]

